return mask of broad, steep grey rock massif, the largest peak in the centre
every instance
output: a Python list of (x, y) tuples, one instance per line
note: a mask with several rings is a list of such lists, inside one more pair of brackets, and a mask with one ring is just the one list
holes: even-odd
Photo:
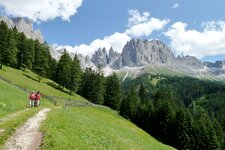
[(147, 64), (171, 64), (175, 62), (172, 51), (159, 40), (131, 39), (126, 43), (123, 52), (116, 62), (117, 69), (123, 66), (139, 67)]

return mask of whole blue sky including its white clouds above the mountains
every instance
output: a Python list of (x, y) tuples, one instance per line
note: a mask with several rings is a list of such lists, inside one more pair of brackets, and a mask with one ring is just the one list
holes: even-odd
[(34, 20), (49, 44), (69, 51), (121, 52), (130, 38), (144, 38), (163, 41), (175, 54), (225, 59), (224, 0), (0, 0), (0, 6), (1, 15)]

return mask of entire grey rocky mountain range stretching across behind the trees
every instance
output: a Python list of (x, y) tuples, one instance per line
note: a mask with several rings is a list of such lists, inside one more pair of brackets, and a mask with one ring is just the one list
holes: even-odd
[[(41, 43), (44, 38), (39, 30), (33, 29), (32, 20), (24, 18), (0, 17), (9, 28), (17, 27), (28, 38), (38, 39)], [(101, 45), (99, 45), (101, 47)], [(51, 55), (59, 59), (64, 49), (50, 46)], [(71, 57), (75, 53), (70, 53)], [(123, 47), (122, 53), (112, 47), (99, 48), (91, 57), (78, 55), (81, 67), (97, 69), (101, 67), (105, 75), (113, 71), (136, 77), (143, 73), (182, 75), (197, 78), (225, 81), (225, 60), (202, 62), (194, 56), (175, 56), (171, 49), (160, 40), (131, 39)], [(124, 74), (124, 75), (125, 75)]]

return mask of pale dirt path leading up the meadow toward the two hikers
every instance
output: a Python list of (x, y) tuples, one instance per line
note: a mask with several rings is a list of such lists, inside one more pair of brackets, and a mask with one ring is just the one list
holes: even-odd
[(41, 144), (42, 133), (38, 131), (40, 124), (46, 118), (50, 108), (44, 108), (34, 117), (30, 118), (16, 133), (8, 140), (5, 150), (36, 150)]

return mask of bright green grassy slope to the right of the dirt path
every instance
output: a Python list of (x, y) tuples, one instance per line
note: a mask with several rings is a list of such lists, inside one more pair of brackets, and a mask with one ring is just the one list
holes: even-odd
[(48, 114), (42, 131), (43, 150), (173, 149), (106, 108), (55, 109)]

